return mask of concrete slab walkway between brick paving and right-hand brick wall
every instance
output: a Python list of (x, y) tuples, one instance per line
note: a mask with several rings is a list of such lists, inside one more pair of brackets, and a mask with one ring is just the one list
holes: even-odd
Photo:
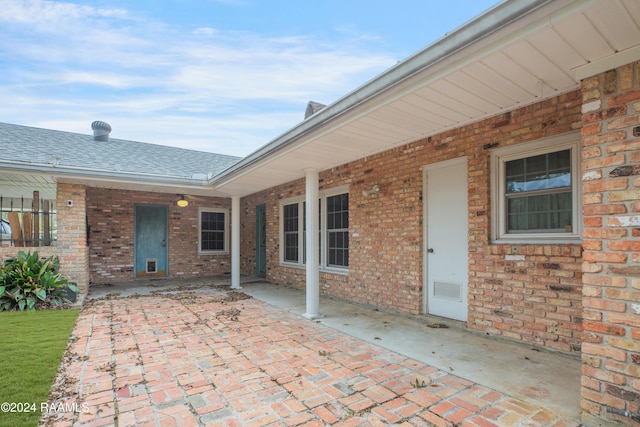
[[(292, 313), (305, 312), (301, 289), (249, 282), (242, 291)], [(438, 369), (580, 418), (581, 361), (563, 353), (466, 329), (461, 322), (408, 316), (322, 297), (318, 322)]]

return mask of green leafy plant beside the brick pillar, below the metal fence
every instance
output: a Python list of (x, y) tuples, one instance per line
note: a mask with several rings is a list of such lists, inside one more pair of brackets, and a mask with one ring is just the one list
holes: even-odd
[(67, 299), (67, 288), (78, 293), (59, 271), (59, 260), (51, 256), (41, 260), (38, 252), (18, 252), (8, 258), (0, 270), (0, 311), (35, 310), (61, 306)]

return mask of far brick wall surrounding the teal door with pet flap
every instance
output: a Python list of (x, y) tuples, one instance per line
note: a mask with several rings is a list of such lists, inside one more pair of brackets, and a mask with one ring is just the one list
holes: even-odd
[(175, 201), (175, 194), (88, 188), (91, 282), (134, 278), (136, 204), (168, 207), (169, 277), (210, 276), (230, 272), (229, 254), (198, 254), (198, 208), (230, 209), (230, 199), (190, 197), (189, 206), (185, 208), (178, 207)]

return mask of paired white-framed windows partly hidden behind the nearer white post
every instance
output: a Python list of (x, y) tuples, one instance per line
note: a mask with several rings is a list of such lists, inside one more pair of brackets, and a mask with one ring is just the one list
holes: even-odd
[[(280, 260), (284, 265), (302, 267), (306, 263), (307, 215), (304, 197), (281, 202)], [(322, 270), (346, 271), (349, 267), (349, 194), (346, 188), (320, 195), (318, 204), (318, 263)], [(302, 215), (300, 215), (302, 213)], [(326, 248), (324, 251), (322, 248)]]

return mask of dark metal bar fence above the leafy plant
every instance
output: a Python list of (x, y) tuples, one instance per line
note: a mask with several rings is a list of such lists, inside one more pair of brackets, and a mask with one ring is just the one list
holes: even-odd
[(55, 201), (0, 194), (0, 246), (52, 246), (57, 228)]

